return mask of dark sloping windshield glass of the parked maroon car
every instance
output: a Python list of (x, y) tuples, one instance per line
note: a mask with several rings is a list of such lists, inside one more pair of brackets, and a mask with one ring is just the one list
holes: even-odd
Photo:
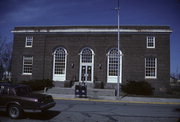
[(31, 89), (29, 87), (18, 87), (15, 90), (18, 96), (26, 96), (31, 93)]

